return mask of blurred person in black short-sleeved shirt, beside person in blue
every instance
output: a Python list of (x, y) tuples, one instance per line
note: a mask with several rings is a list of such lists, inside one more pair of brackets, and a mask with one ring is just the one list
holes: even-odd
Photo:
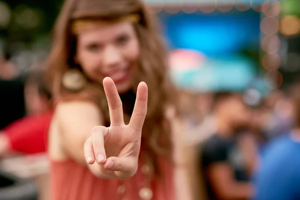
[(216, 132), (202, 143), (199, 151), (208, 199), (248, 199), (254, 192), (250, 183), (252, 164), (248, 164), (252, 155), (249, 156), (248, 147), (254, 145), (251, 137), (240, 130), (249, 123), (249, 108), (242, 95), (217, 92), (212, 116)]

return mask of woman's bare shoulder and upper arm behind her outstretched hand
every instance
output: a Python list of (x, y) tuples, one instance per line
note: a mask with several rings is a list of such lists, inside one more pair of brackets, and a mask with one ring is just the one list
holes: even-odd
[(83, 145), (94, 126), (102, 125), (98, 107), (87, 101), (59, 102), (52, 121), (52, 158), (72, 158), (84, 164)]

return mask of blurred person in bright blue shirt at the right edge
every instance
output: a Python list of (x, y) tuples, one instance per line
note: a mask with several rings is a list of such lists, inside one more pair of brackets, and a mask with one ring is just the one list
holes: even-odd
[(300, 95), (293, 93), (295, 125), (266, 144), (255, 175), (255, 200), (300, 199)]

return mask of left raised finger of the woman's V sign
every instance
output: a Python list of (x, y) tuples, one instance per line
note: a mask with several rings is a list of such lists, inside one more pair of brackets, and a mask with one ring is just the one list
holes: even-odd
[(110, 124), (122, 125), (124, 123), (122, 101), (113, 80), (110, 77), (105, 77), (103, 87), (108, 102)]

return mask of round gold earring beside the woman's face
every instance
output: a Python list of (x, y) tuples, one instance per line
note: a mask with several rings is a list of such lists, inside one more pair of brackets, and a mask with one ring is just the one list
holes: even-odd
[(86, 84), (86, 79), (78, 69), (67, 70), (62, 76), (62, 85), (69, 90), (78, 91)]

